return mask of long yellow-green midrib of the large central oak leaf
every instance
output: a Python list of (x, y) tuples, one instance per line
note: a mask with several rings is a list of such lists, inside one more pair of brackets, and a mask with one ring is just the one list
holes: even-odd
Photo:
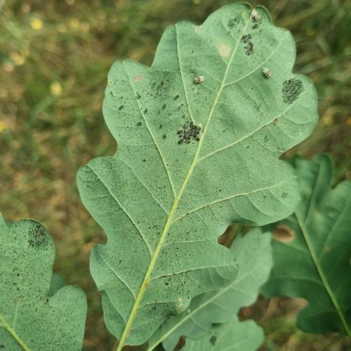
[[(126, 341), (126, 338), (128, 338), (129, 332), (131, 331), (131, 326), (133, 324), (133, 320), (134, 320), (135, 314), (138, 311), (138, 307), (139, 307), (140, 302), (141, 302), (141, 300), (143, 298), (143, 295), (145, 293), (146, 287), (147, 287), (147, 285), (150, 282), (150, 277), (151, 277), (152, 271), (154, 270), (154, 265), (156, 263), (157, 257), (159, 256), (159, 251), (161, 251), (162, 244), (163, 244), (164, 240), (166, 239), (166, 235), (168, 234), (169, 227), (172, 224), (174, 213), (176, 213), (176, 210), (178, 208), (178, 204), (179, 204), (180, 198), (182, 197), (183, 192), (185, 190), (185, 187), (187, 186), (187, 183), (188, 183), (188, 181), (190, 179), (190, 176), (192, 175), (192, 172), (194, 171), (194, 168), (197, 165), (197, 161), (199, 159), (199, 154), (200, 154), (200, 151), (201, 151), (201, 146), (202, 146), (202, 143), (204, 142), (204, 137), (206, 135), (206, 131), (208, 129), (208, 125), (210, 124), (210, 121), (211, 121), (211, 118), (213, 116), (213, 112), (214, 112), (214, 110), (216, 108), (216, 105), (217, 105), (218, 99), (220, 97), (220, 94), (222, 93), (223, 88), (225, 87), (225, 80), (227, 78), (227, 74), (229, 72), (230, 66), (232, 65), (232, 60), (234, 58), (234, 55), (237, 52), (237, 48), (238, 48), (239, 43), (240, 43), (241, 35), (245, 32), (246, 28), (248, 27), (249, 22), (251, 20), (251, 15), (252, 15), (252, 9), (251, 9), (251, 13), (249, 15), (249, 20), (247, 20), (246, 25), (244, 25), (243, 29), (241, 30), (241, 34), (239, 35), (239, 39), (237, 40), (237, 44), (236, 44), (236, 46), (233, 49), (232, 55), (230, 56), (230, 60), (228, 61), (227, 68), (225, 69), (225, 74), (223, 75), (222, 83), (220, 84), (220, 88), (218, 89), (218, 93), (216, 95), (216, 98), (213, 101), (213, 105), (211, 107), (211, 111), (210, 111), (210, 113), (208, 115), (208, 119), (206, 121), (206, 125), (204, 126), (204, 131), (201, 134), (201, 138), (199, 140), (199, 144), (197, 146), (197, 150), (196, 150), (196, 152), (194, 154), (194, 159), (192, 160), (192, 164), (190, 165), (190, 168), (187, 171), (187, 174), (185, 176), (185, 179), (183, 180), (183, 183), (182, 183), (182, 185), (180, 187), (178, 195), (177, 195), (176, 199), (173, 202), (173, 206), (171, 208), (171, 211), (169, 212), (166, 224), (164, 225), (164, 230), (161, 233), (161, 237), (159, 239), (159, 243), (157, 244), (157, 247), (156, 247), (156, 249), (155, 249), (155, 251), (154, 251), (154, 253), (152, 255), (152, 258), (150, 260), (150, 265), (147, 268), (147, 272), (145, 274), (145, 278), (143, 280), (143, 284), (140, 287), (140, 290), (138, 292), (138, 296), (135, 299), (134, 305), (132, 307), (131, 314), (129, 314), (129, 318), (128, 318), (128, 321), (126, 323), (126, 327), (124, 328), (124, 331), (123, 331), (123, 333), (121, 335), (121, 339), (119, 340), (119, 345), (117, 347), (117, 351), (121, 351), (122, 350), (122, 347), (124, 346), (124, 342)], [(183, 76), (182, 76), (182, 79), (183, 79)]]

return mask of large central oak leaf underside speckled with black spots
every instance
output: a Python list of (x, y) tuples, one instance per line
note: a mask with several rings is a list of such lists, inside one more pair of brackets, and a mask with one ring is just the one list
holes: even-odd
[(232, 282), (237, 265), (217, 242), (230, 223), (272, 223), (298, 203), (278, 158), (312, 131), (316, 94), (291, 73), (289, 32), (256, 11), (235, 4), (201, 26), (180, 22), (152, 67), (110, 70), (103, 113), (119, 147), (81, 167), (77, 183), (107, 233), (91, 273), (121, 345), (144, 343), (192, 297)]

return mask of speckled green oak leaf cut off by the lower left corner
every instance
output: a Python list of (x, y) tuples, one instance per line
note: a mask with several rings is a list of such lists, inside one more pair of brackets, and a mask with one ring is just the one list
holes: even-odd
[(0, 349), (81, 350), (86, 297), (77, 286), (49, 294), (54, 257), (41, 224), (0, 214)]

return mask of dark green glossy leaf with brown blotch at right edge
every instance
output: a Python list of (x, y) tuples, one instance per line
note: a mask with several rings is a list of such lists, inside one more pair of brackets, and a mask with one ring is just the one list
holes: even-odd
[(297, 321), (303, 331), (351, 336), (351, 182), (330, 190), (326, 155), (296, 158), (295, 168), (303, 199), (293, 215), (277, 223), (274, 267), (263, 292), (305, 298), (308, 305)]

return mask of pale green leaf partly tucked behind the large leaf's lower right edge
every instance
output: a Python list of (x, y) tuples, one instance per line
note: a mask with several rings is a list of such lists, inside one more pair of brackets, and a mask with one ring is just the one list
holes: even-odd
[[(204, 336), (204, 340), (208, 340), (212, 338), (211, 333), (225, 333), (227, 329), (228, 332), (231, 330), (232, 335), (239, 336), (239, 340), (244, 340), (241, 331), (246, 328), (245, 326), (251, 328), (249, 327), (251, 324), (245, 323), (245, 326), (242, 326), (235, 318), (231, 322), (228, 321), (239, 312), (241, 307), (256, 301), (260, 286), (267, 280), (272, 267), (270, 237), (270, 233), (263, 234), (258, 229), (251, 230), (245, 236), (237, 235), (230, 248), (239, 265), (239, 272), (234, 282), (218, 291), (211, 291), (193, 298), (187, 310), (168, 318), (162, 324), (149, 340), (148, 350), (154, 350), (159, 343), (162, 343), (165, 350), (174, 350), (180, 336), (187, 336), (186, 345), (189, 345), (192, 342), (188, 338)], [(213, 329), (213, 324), (225, 322), (228, 323), (223, 328)], [(255, 331), (256, 329), (257, 327), (254, 328)], [(251, 333), (251, 331), (248, 332)]]

